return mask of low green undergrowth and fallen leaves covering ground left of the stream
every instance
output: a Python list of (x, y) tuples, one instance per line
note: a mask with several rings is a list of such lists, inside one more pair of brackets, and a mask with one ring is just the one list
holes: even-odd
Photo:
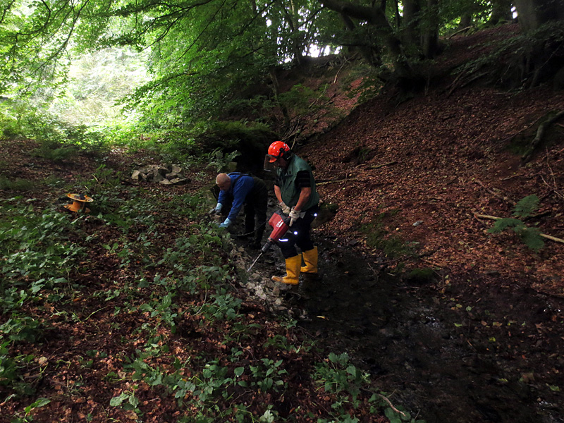
[(77, 189), (95, 198), (89, 214), (0, 190), (1, 419), (298, 421), (286, 401), (319, 423), (414, 421), (348, 356), (248, 300), (205, 190), (123, 185), (106, 166), (56, 191)]

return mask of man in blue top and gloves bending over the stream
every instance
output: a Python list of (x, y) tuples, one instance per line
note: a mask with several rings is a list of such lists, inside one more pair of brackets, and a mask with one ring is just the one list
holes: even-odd
[(219, 214), (224, 204), (231, 203), (227, 219), (219, 227), (228, 228), (244, 205), (245, 235), (254, 235), (252, 246), (260, 247), (266, 223), (266, 200), (268, 199), (268, 190), (264, 181), (245, 173), (219, 173), (216, 177), (216, 185), (220, 191), (215, 212)]

